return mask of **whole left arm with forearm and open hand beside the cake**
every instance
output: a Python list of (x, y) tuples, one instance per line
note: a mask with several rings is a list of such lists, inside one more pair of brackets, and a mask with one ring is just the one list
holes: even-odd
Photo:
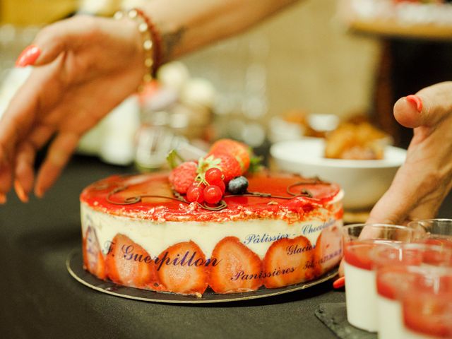
[[(13, 186), (22, 201), (33, 188), (35, 195), (45, 194), (83, 133), (136, 92), (154, 66), (150, 48), (157, 64), (169, 61), (246, 30), (292, 2), (141, 1), (141, 13), (158, 30), (133, 15), (75, 16), (43, 28), (16, 61), (32, 66), (32, 73), (0, 121), (0, 203)], [(35, 179), (36, 152), (48, 142)]]

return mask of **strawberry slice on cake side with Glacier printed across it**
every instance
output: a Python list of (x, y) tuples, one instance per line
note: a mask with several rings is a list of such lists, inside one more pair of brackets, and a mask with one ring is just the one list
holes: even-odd
[(275, 288), (302, 283), (314, 278), (314, 268), (314, 249), (309, 239), (279, 239), (263, 259), (263, 285)]

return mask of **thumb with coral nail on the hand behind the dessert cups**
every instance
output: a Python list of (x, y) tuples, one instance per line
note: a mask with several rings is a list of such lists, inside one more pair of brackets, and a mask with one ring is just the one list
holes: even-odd
[(394, 117), (405, 127), (435, 126), (452, 112), (452, 82), (436, 83), (394, 105)]

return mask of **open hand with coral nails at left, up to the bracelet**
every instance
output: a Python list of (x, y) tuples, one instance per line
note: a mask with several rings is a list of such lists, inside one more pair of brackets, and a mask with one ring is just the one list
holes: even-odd
[[(35, 66), (0, 121), (0, 203), (14, 182), (22, 201), (56, 181), (79, 139), (131, 95), (145, 73), (136, 23), (88, 16), (44, 28), (18, 59)], [(37, 150), (52, 137), (35, 181)]]

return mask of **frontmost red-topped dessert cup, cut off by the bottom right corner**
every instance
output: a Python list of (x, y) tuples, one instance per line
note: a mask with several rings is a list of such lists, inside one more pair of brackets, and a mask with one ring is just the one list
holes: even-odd
[(427, 268), (400, 297), (403, 338), (452, 338), (452, 270)]

